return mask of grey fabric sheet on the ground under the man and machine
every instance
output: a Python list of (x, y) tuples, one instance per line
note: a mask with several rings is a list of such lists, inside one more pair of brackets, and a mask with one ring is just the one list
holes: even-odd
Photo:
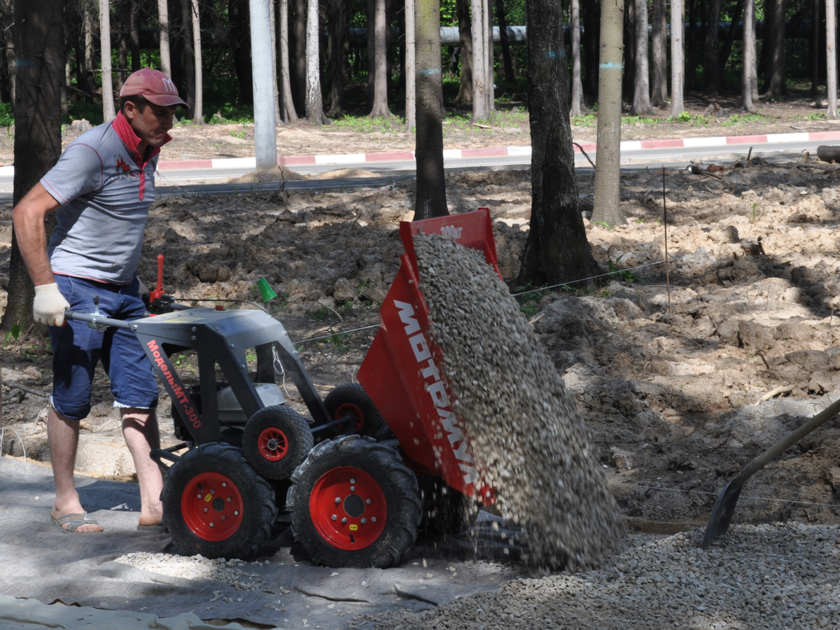
[(265, 627), (333, 628), (346, 627), (360, 614), (395, 607), (419, 611), (493, 591), (522, 575), (515, 562), (517, 548), (510, 544), (517, 537), (504, 530), (500, 536), (498, 525), (483, 514), (485, 520), (470, 535), (421, 538), (400, 566), (386, 570), (314, 566), (291, 533), (278, 530), (255, 558), (263, 564), (248, 561), (241, 567), (259, 574), (265, 585), (236, 591), (223, 582), (187, 580), (115, 562), (123, 554), (180, 552), (166, 533), (136, 531), (138, 486), (81, 475), (76, 486), (82, 505), (105, 532), (60, 532), (50, 519), (52, 471), (0, 458), (0, 595), (158, 617), (192, 612), (204, 620), (244, 620)]

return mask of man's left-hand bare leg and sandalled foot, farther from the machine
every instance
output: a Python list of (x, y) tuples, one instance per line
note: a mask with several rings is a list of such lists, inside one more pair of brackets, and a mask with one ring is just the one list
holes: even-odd
[[(47, 438), (50, 440), (50, 461), (55, 479), (55, 504), (52, 517), (81, 514), (85, 510), (81, 507), (76, 483), (73, 481), (76, 449), (79, 446), (79, 423), (50, 407), (50, 412), (47, 414)], [(67, 525), (64, 528), (66, 529)], [(102, 529), (102, 525), (85, 523), (76, 528), (76, 532), (101, 532)]]

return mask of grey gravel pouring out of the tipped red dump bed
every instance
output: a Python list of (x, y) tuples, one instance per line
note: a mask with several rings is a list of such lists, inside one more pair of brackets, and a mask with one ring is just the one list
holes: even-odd
[(502, 517), (527, 530), (528, 562), (600, 564), (622, 518), (554, 363), (483, 253), (437, 235), (414, 244), (453, 411)]

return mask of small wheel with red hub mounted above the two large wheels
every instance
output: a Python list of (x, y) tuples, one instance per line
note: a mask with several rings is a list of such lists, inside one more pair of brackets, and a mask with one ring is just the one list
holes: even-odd
[[(264, 432), (281, 431), (286, 437), (286, 453), (269, 459)], [(269, 479), (288, 479), (312, 450), (312, 431), (305, 417), (285, 405), (263, 407), (248, 418), (242, 435), (242, 452), (260, 475)], [(275, 451), (276, 452), (276, 451)]]

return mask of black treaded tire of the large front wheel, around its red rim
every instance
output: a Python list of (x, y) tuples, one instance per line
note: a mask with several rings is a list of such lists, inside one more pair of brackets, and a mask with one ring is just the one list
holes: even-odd
[[(318, 480), (344, 467), (370, 475), (386, 502), (386, 524), (382, 532), (361, 549), (340, 549), (323, 538), (313, 522), (318, 516), (313, 516), (310, 508), (310, 498)], [(291, 475), (291, 483), (286, 495), (286, 509), (291, 512), (291, 532), (313, 563), (385, 569), (398, 564), (417, 539), (417, 526), (423, 515), (417, 477), (402, 463), (395, 449), (376, 444), (374, 438), (345, 435), (318, 444)], [(340, 512), (343, 507), (335, 509)]]

